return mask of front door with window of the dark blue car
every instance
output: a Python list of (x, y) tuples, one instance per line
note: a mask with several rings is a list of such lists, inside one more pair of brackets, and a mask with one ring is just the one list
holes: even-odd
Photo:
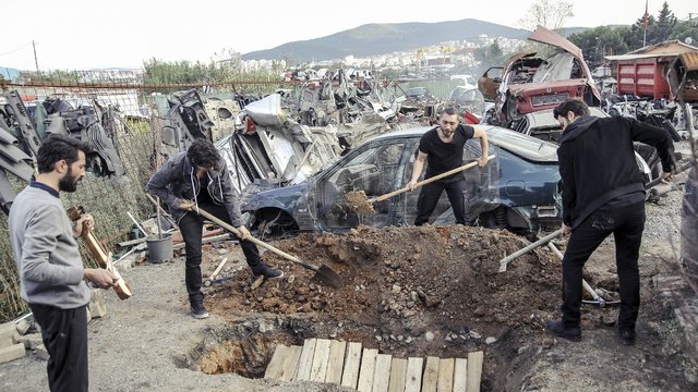
[(364, 192), (368, 198), (401, 188), (405, 183), (405, 139), (382, 139), (360, 148), (329, 169), (315, 188), (317, 218), (328, 231), (344, 231), (366, 224), (396, 224), (399, 198), (373, 203), (375, 213), (357, 213), (345, 203), (349, 192)]

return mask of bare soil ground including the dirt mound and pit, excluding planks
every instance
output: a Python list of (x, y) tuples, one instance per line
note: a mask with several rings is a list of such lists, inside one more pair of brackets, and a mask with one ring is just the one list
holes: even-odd
[[(681, 194), (671, 200), (671, 208), (648, 207), (648, 215), (671, 217), (667, 209), (677, 210)], [(667, 231), (676, 237), (675, 230)], [(564, 238), (556, 243), (564, 249)], [(698, 388), (696, 369), (678, 346), (675, 301), (652, 284), (652, 278), (672, 273), (671, 241), (646, 230), (635, 346), (617, 342), (614, 307), (582, 307), (579, 343), (549, 335), (543, 322), (559, 318), (559, 259), (539, 247), (498, 272), (502, 258), (528, 244), (507, 231), (460, 225), (359, 226), (344, 235), (273, 242), (336, 271), (342, 279), (338, 289), (270, 252), (264, 253), (265, 262), (281, 268), (285, 277), (252, 289), (237, 244), (208, 244), (205, 274), (224, 257), (229, 260), (205, 289), (212, 314), (205, 320), (189, 315), (182, 256), (139, 264), (122, 273), (134, 296), (119, 301), (105, 292), (108, 314), (89, 323), (91, 390), (346, 390), (261, 379), (277, 343), (302, 344), (306, 338), (361, 342), (397, 357), (465, 357), (483, 351), (484, 391)], [(606, 290), (606, 299), (617, 295), (612, 240), (594, 253), (585, 278)], [(0, 365), (0, 389), (45, 390), (45, 366), (36, 355)]]

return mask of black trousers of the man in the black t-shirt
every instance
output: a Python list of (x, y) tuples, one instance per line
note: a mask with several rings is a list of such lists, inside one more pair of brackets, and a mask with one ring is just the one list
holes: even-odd
[(441, 194), (446, 191), (448, 201), (454, 209), (456, 223), (466, 224), (466, 198), (462, 194), (466, 187), (466, 179), (438, 180), (422, 186), (417, 199), (417, 218), (414, 225), (422, 225), (429, 222), (429, 217), (434, 212)]

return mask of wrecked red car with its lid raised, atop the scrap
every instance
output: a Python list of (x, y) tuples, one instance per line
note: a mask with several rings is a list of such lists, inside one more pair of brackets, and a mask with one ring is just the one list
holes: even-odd
[(485, 115), (486, 123), (516, 127), (524, 114), (554, 108), (570, 98), (600, 106), (601, 96), (579, 48), (543, 26), (528, 39), (558, 51), (549, 58), (537, 52), (515, 54), (500, 75), (488, 70), (478, 82), (485, 99), (495, 102)]

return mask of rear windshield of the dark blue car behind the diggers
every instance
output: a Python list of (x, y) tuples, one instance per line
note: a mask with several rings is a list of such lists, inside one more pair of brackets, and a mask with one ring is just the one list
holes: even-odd
[(494, 145), (531, 161), (557, 162), (557, 146), (535, 137), (492, 127), (488, 130), (488, 139)]

